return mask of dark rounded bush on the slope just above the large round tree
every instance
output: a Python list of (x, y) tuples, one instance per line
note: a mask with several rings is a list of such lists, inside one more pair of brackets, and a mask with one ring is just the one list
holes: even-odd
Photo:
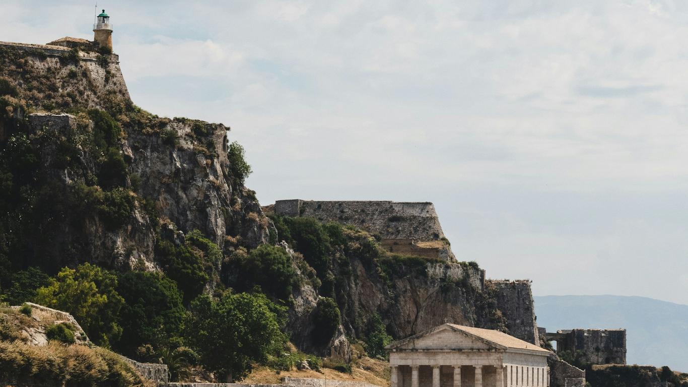
[(289, 254), (277, 246), (263, 244), (248, 255), (236, 254), (239, 260), (240, 281), (244, 289), (253, 285), (270, 295), (286, 300), (292, 294), (292, 286), (297, 283), (297, 273), (292, 266)]

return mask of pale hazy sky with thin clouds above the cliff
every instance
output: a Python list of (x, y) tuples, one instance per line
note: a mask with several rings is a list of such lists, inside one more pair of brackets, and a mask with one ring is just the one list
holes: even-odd
[[(92, 38), (2, 0), (0, 40)], [(131, 98), (232, 127), (261, 203), (434, 202), (537, 295), (688, 304), (685, 1), (100, 1)]]

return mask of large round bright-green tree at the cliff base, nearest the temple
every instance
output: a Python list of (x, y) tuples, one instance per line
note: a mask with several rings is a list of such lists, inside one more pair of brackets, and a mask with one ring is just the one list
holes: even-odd
[(265, 363), (286, 344), (280, 311), (260, 293), (227, 292), (219, 300), (201, 295), (191, 303), (184, 336), (206, 370), (241, 379), (251, 364)]

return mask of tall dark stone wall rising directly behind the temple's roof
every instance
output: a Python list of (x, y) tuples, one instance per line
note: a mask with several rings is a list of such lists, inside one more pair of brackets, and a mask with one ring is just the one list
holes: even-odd
[(497, 289), (497, 308), (506, 317), (509, 335), (540, 345), (530, 280), (488, 280)]

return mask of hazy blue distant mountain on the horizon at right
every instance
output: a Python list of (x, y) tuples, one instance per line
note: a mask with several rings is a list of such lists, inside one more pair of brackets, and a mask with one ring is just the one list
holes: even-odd
[(548, 332), (626, 328), (628, 364), (688, 372), (688, 305), (619, 295), (546, 295), (535, 297), (535, 313), (537, 325)]

